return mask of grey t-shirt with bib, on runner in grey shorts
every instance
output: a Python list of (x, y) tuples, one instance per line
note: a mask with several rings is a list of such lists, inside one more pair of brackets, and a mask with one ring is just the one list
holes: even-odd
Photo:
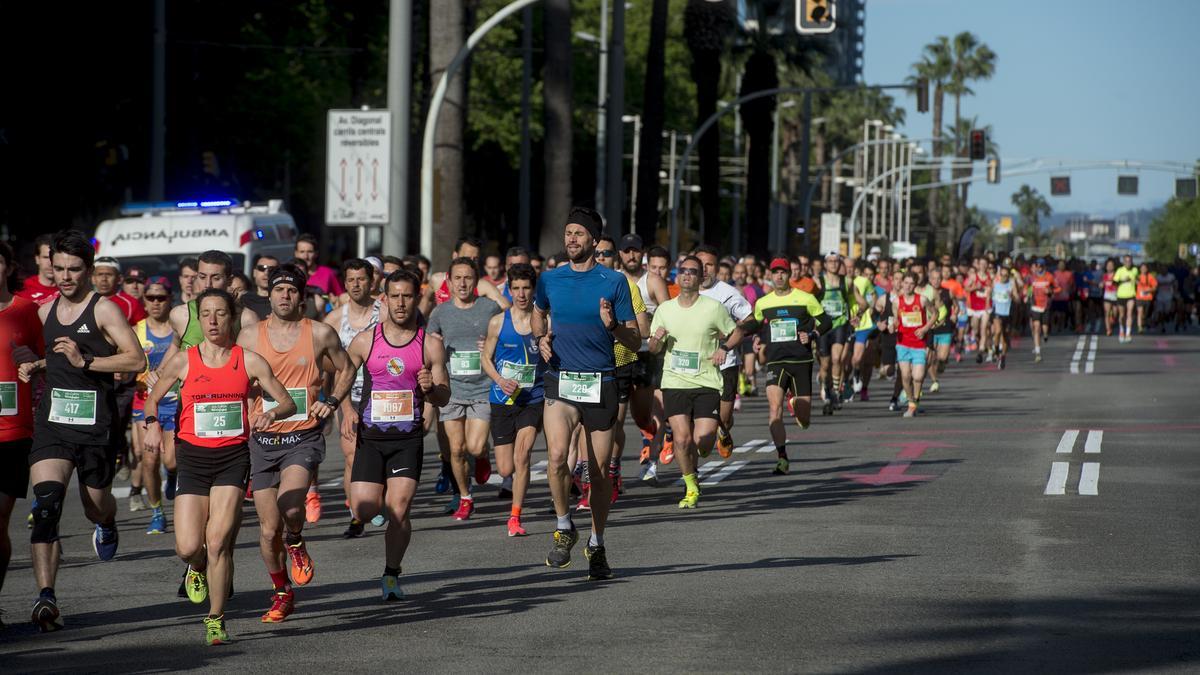
[(487, 322), (500, 313), (491, 298), (475, 298), (467, 309), (442, 303), (430, 313), (427, 333), (442, 335), (450, 371), (450, 398), (455, 401), (487, 399), (491, 378), (484, 372), (479, 342), (487, 336)]

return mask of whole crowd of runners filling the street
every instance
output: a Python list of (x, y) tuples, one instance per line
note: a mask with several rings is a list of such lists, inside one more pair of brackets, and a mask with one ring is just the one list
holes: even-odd
[[(208, 603), (208, 644), (229, 639), (244, 502), (271, 584), (262, 621), (284, 621), (294, 587), (313, 580), (304, 530), (322, 518), (326, 442), (344, 456), (341, 490), (324, 496), (348, 507), (344, 536), (371, 521), (386, 528), (384, 601), (404, 597), (431, 432), (433, 498), (472, 519), (498, 472), (509, 537), (526, 534), (542, 435), (556, 515), (545, 562), (569, 567), (583, 538), (587, 578), (604, 580), (626, 453), (641, 480), (677, 462), (678, 508), (694, 509), (698, 460), (731, 456), (745, 398), (766, 396), (774, 473), (787, 474), (785, 420), (809, 429), (814, 407), (852, 414), (874, 390), (876, 405), (919, 417), (952, 363), (1003, 370), (1024, 334), (1040, 360), (1055, 333), (1126, 342), (1186, 329), (1200, 286), (1198, 269), (1128, 257), (738, 258), (701, 245), (672, 259), (636, 234), (607, 237), (587, 208), (571, 210), (563, 251), (546, 258), (521, 247), (481, 256), (464, 238), (440, 264), (372, 257), (334, 270), (301, 237), (293, 259), (253, 261), (251, 279), (222, 251), (185, 258), (167, 279), (97, 257), (77, 232), (35, 249), (36, 274), (19, 279), (22, 261), (0, 243), (0, 587), (8, 522), (31, 492), (19, 513), (37, 585), (31, 620), (61, 628), (54, 587), (71, 477), (102, 561), (118, 552), (112, 485), (127, 477), (145, 533), (174, 534), (179, 593)], [(576, 518), (590, 520), (586, 533)]]

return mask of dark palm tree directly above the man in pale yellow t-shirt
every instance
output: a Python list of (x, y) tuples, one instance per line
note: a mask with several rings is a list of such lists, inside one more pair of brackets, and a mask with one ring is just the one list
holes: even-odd
[[(688, 0), (683, 36), (691, 52), (691, 77), (696, 82), (696, 126), (716, 112), (720, 96), (721, 54), (733, 31), (733, 7), (728, 0)], [(647, 78), (649, 82), (649, 78)], [(714, 125), (700, 139), (700, 199), (707, 232), (721, 232), (721, 133)], [(722, 228), (724, 229), (724, 228)], [(739, 249), (734, 243), (734, 249)]]

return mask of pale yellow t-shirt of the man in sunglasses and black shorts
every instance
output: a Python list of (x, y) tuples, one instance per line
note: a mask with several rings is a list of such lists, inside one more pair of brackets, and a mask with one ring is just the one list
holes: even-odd
[(650, 334), (667, 329), (662, 357), (662, 389), (721, 389), (721, 374), (713, 365), (713, 352), (737, 324), (725, 305), (700, 295), (690, 307), (674, 298), (659, 305)]

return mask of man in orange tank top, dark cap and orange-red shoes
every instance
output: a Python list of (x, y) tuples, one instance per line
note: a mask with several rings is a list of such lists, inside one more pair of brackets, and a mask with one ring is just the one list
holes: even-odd
[[(317, 467), (325, 459), (322, 426), (354, 383), (354, 370), (337, 334), (324, 323), (301, 316), (307, 279), (294, 265), (271, 273), (271, 316), (238, 335), (238, 345), (266, 360), (287, 389), (295, 413), (277, 418), (250, 435), (251, 485), (258, 513), (258, 548), (271, 578), (271, 609), (264, 623), (283, 621), (295, 609), (295, 595), (284, 571), (292, 561), (292, 581), (312, 581), (313, 561), (304, 542), (305, 501)], [(331, 394), (320, 396), (325, 377)], [(269, 394), (269, 393), (266, 393)], [(278, 399), (258, 393), (250, 410), (259, 414), (278, 406)], [(287, 531), (283, 536), (281, 530)]]

